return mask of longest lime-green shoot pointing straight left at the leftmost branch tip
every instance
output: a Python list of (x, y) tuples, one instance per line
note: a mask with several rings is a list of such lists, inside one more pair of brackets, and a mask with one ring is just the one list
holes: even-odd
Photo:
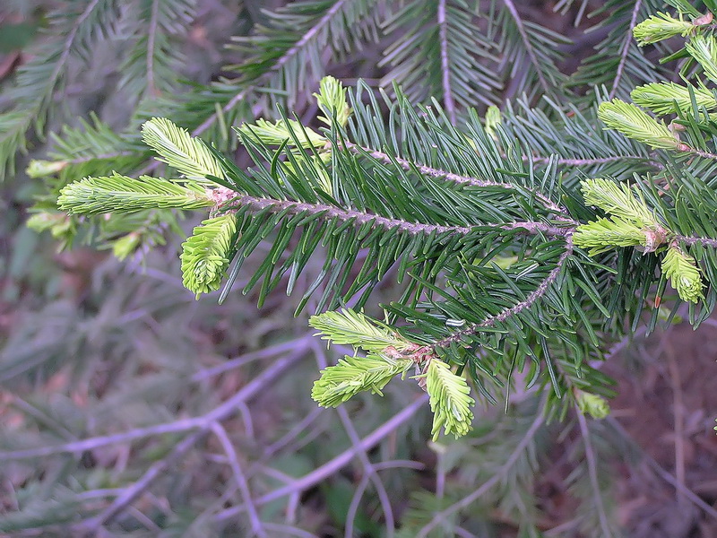
[(177, 185), (167, 179), (142, 176), (139, 179), (113, 174), (84, 178), (65, 186), (57, 198), (67, 213), (97, 215), (130, 213), (143, 209), (200, 209), (214, 202), (195, 183)]

